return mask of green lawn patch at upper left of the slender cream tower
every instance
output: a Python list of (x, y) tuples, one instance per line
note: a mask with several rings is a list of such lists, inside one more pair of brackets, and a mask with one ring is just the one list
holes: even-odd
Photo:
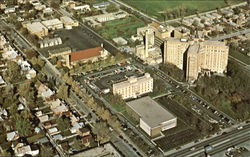
[(96, 31), (109, 40), (120, 36), (128, 40), (132, 35), (136, 34), (137, 28), (143, 26), (145, 26), (145, 23), (142, 20), (132, 16), (106, 22)]

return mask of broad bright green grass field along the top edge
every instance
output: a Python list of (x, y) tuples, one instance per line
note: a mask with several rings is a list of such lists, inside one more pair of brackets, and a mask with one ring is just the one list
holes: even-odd
[[(186, 8), (188, 11), (183, 16), (196, 12), (206, 12), (227, 6), (224, 0), (123, 0), (130, 6), (163, 21), (162, 13), (177, 8)], [(242, 0), (231, 1), (229, 4), (239, 3)], [(168, 19), (166, 19), (168, 20)]]

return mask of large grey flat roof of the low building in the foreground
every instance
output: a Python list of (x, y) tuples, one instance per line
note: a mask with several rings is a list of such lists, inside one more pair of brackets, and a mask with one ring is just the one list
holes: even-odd
[(149, 96), (127, 102), (127, 105), (151, 128), (176, 118)]

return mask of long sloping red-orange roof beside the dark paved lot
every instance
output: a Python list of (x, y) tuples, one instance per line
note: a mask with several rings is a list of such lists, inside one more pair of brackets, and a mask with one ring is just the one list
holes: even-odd
[(70, 60), (71, 62), (78, 61), (81, 59), (87, 59), (91, 57), (96, 57), (101, 55), (102, 47), (95, 47), (95, 48), (90, 48), (86, 50), (80, 50), (76, 52), (72, 52), (70, 54)]

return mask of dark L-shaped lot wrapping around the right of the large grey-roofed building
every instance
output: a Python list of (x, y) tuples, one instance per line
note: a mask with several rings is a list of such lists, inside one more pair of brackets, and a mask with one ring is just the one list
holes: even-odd
[[(172, 101), (167, 97), (157, 99), (164, 108), (177, 116), (177, 127), (166, 130), (163, 132), (165, 137), (155, 140), (154, 142), (159, 145), (163, 151), (167, 151), (185, 143), (189, 143), (202, 137), (202, 133), (191, 124), (191, 121), (196, 117), (189, 110), (181, 105)], [(196, 117), (198, 118), (198, 117)], [(203, 125), (208, 125), (204, 121), (200, 121)]]

